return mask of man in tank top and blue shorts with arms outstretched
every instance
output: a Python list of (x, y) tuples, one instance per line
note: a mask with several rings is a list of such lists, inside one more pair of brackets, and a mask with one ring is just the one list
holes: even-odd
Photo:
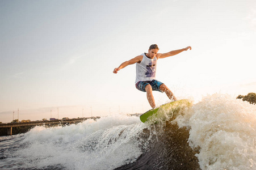
[(140, 56), (130, 59), (129, 61), (121, 63), (119, 67), (114, 69), (113, 73), (116, 74), (120, 69), (136, 63), (136, 88), (140, 91), (146, 92), (146, 98), (148, 99), (150, 106), (155, 108), (156, 103), (152, 94), (153, 90), (165, 92), (170, 100), (177, 100), (173, 95), (173, 92), (171, 92), (170, 89), (165, 86), (165, 84), (156, 80), (157, 60), (160, 58), (174, 56), (188, 49), (191, 50), (191, 46), (161, 54), (158, 53), (158, 46), (153, 44), (150, 45), (148, 53), (143, 53)]

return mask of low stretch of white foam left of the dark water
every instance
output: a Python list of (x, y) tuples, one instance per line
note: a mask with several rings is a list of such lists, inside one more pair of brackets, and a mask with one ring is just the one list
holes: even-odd
[(30, 145), (15, 155), (26, 158), (24, 168), (114, 169), (141, 155), (137, 137), (144, 128), (138, 117), (121, 114), (64, 128), (38, 126), (24, 135)]

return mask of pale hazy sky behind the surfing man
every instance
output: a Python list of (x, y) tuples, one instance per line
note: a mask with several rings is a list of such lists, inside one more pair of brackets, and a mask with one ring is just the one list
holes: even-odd
[(135, 65), (112, 71), (151, 44), (192, 46), (158, 61), (178, 99), (256, 92), (255, 0), (0, 0), (0, 25), (0, 122), (147, 111)]

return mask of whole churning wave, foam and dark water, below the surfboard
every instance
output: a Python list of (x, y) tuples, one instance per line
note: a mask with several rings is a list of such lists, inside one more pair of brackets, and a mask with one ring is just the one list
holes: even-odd
[(0, 169), (255, 169), (255, 105), (215, 94), (163, 113), (157, 124), (116, 114), (1, 138)]

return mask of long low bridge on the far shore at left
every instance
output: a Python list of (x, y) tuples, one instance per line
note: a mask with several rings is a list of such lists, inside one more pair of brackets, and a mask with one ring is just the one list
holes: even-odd
[(98, 119), (97, 117), (83, 117), (83, 118), (72, 118), (72, 119), (65, 119), (65, 120), (47, 120), (47, 121), (31, 121), (31, 122), (12, 122), (8, 124), (0, 124), (0, 128), (8, 128), (7, 134), (12, 135), (12, 128), (20, 127), (20, 126), (44, 126), (44, 125), (64, 125), (64, 124), (78, 124), (79, 122), (83, 122), (87, 119)]

